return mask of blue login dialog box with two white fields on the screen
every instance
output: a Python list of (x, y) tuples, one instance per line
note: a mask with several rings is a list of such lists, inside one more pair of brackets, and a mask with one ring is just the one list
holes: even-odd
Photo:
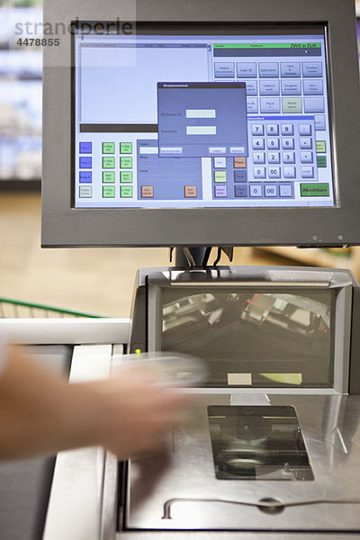
[(245, 83), (158, 83), (160, 157), (247, 157)]

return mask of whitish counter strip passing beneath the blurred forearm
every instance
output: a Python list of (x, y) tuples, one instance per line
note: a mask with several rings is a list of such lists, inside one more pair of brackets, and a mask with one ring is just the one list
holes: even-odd
[[(112, 346), (75, 347), (70, 382), (107, 377)], [(99, 540), (105, 453), (92, 447), (58, 454), (43, 540)]]

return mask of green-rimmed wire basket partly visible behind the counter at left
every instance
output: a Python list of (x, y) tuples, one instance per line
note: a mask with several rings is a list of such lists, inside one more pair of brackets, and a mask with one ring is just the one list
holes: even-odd
[(102, 319), (99, 315), (84, 313), (82, 311), (62, 310), (45, 304), (21, 302), (10, 298), (0, 297), (0, 319), (18, 318), (87, 318)]

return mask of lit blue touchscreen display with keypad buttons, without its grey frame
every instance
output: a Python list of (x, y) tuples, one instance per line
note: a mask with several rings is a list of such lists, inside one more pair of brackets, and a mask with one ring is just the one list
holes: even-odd
[(323, 26), (72, 37), (75, 208), (334, 207)]

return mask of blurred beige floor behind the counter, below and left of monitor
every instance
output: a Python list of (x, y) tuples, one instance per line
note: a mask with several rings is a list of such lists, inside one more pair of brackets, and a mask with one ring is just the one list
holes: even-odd
[[(274, 264), (251, 249), (234, 263)], [(40, 194), (0, 192), (0, 297), (129, 317), (136, 270), (167, 264), (166, 248), (41, 249)]]

